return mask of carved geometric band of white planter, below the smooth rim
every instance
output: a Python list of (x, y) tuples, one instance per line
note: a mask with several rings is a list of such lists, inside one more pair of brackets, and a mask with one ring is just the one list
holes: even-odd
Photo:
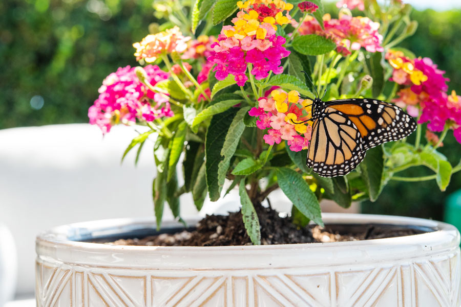
[(237, 271), (92, 267), (38, 257), (36, 274), (38, 307), (459, 307), (461, 303), (459, 250), (400, 264)]

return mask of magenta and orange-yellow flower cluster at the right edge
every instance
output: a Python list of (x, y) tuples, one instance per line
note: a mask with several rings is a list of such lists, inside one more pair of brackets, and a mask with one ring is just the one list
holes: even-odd
[(454, 130), (456, 140), (461, 143), (461, 97), (452, 91), (447, 94), (448, 78), (445, 72), (429, 58), (410, 59), (402, 52), (389, 52), (386, 59), (394, 68), (391, 81), (403, 86), (393, 100), (407, 108), (419, 124), (428, 123), (429, 130), (443, 131), (446, 125)]

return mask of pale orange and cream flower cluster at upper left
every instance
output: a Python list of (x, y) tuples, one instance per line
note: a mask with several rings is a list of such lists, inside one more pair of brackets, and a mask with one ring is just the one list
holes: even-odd
[(182, 54), (187, 50), (187, 41), (191, 37), (182, 35), (177, 26), (157, 34), (149, 34), (140, 42), (135, 42), (136, 60), (143, 59), (146, 63), (153, 63), (157, 58), (167, 53)]

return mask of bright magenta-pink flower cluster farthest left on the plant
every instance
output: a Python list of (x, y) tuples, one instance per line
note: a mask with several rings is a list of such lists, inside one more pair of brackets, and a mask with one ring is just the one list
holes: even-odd
[[(152, 85), (169, 77), (158, 66), (148, 65), (144, 70)], [(129, 125), (135, 124), (136, 119), (152, 122), (162, 116), (173, 116), (168, 98), (142, 84), (134, 67), (118, 68), (104, 79), (98, 91), (99, 98), (89, 108), (88, 117), (90, 124), (99, 126), (102, 133), (118, 123)]]

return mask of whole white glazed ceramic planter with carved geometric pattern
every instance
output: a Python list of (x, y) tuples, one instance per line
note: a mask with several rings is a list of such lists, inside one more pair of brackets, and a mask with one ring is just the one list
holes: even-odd
[(153, 219), (61, 226), (37, 238), (37, 306), (460, 306), (459, 232), (453, 226), (348, 214), (325, 214), (324, 221), (435, 231), (338, 243), (136, 247), (72, 240), (151, 228)]

